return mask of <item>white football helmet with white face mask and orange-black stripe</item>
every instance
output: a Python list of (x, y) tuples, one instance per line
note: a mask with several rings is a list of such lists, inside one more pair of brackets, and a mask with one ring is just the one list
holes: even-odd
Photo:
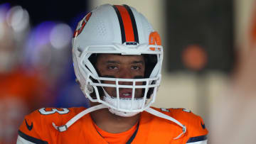
[[(93, 9), (78, 23), (72, 44), (75, 75), (82, 92), (90, 101), (104, 104), (119, 116), (134, 116), (155, 101), (161, 81), (163, 48), (159, 34), (136, 9), (110, 4)], [(100, 77), (93, 57), (103, 53), (144, 55), (145, 77)], [(115, 84), (104, 84), (104, 80)], [(132, 85), (119, 82), (131, 82)], [(136, 85), (136, 82), (143, 82), (143, 85)], [(115, 87), (117, 97), (107, 94), (104, 87)], [(119, 88), (132, 89), (132, 98), (120, 98)], [(143, 89), (142, 98), (134, 98), (135, 89)]]

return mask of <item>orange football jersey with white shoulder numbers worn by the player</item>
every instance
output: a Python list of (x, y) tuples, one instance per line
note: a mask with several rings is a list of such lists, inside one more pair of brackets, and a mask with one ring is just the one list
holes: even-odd
[[(156, 109), (156, 108), (153, 108)], [(59, 132), (53, 127), (63, 126), (85, 108), (69, 109), (39, 109), (25, 117), (18, 131), (18, 140), (32, 143), (107, 143), (94, 126), (90, 114), (86, 114), (73, 123), (67, 131)], [(200, 116), (184, 109), (156, 109), (161, 113), (175, 118), (186, 126), (187, 131), (181, 138), (174, 140), (182, 128), (176, 123), (151, 115), (146, 111), (141, 113), (136, 133), (129, 138), (131, 143), (206, 143), (208, 131)], [(119, 134), (119, 133), (117, 133)]]

